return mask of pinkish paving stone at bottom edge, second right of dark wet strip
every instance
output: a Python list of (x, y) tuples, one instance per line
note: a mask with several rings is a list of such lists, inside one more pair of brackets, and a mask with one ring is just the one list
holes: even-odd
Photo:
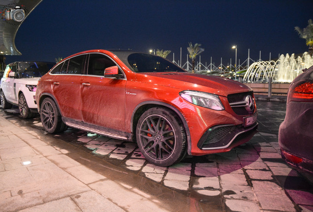
[[(256, 197), (263, 210), (277, 210), (283, 212), (296, 212), (294, 205), (286, 195), (256, 193)], [(283, 203), (283, 204), (282, 204)]]

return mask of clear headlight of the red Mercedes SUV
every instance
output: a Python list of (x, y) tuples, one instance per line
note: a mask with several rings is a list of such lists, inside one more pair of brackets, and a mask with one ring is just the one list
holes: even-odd
[(179, 95), (187, 102), (197, 106), (203, 106), (214, 110), (224, 109), (224, 106), (219, 100), (219, 96), (215, 94), (200, 91), (182, 91)]

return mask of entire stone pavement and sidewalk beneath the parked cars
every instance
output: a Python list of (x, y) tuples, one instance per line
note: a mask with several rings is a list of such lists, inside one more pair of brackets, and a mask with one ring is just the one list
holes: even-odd
[(148, 163), (134, 143), (74, 129), (50, 135), (39, 117), (0, 111), (0, 210), (313, 211), (313, 176), (281, 159), (285, 103), (257, 106), (250, 142), (170, 167)]

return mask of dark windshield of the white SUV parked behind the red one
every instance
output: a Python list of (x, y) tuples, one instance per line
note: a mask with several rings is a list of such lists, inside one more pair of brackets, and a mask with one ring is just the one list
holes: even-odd
[(55, 63), (19, 62), (19, 78), (40, 78), (45, 75)]

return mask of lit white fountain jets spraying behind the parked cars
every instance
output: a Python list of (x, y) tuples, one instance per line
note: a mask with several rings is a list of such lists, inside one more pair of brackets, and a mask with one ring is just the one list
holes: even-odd
[(313, 57), (305, 52), (302, 57), (295, 58), (294, 54), (283, 54), (277, 61), (258, 61), (252, 63), (245, 76), (247, 82), (268, 82), (272, 78), (274, 82), (291, 82), (302, 69), (310, 68), (313, 65)]

